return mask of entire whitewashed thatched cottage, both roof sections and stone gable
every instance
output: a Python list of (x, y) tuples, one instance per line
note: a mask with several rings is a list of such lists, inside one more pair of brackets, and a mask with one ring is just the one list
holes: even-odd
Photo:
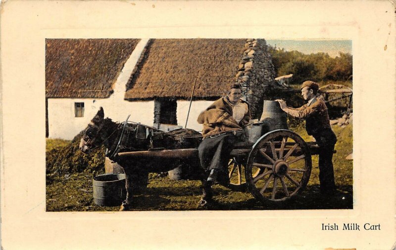
[[(71, 113), (67, 115), (71, 116), (68, 126), (77, 126), (76, 133), (93, 116), (84, 114), (86, 118), (80, 121), (86, 123), (77, 124), (80, 114), (76, 113), (76, 103), (84, 103), (85, 111), (87, 105), (91, 106), (89, 110), (93, 112), (103, 106), (106, 116), (120, 121), (131, 114), (131, 121), (148, 125), (184, 126), (194, 82), (194, 102), (187, 127), (200, 130), (196, 123), (199, 112), (224, 95), (236, 81), (243, 85), (253, 112), (260, 115), (266, 88), (274, 78), (263, 39), (47, 40), (48, 104), (62, 101), (64, 108), (68, 107)], [(113, 99), (112, 106), (118, 110), (105, 107), (110, 103), (106, 99)], [(56, 128), (59, 125), (51, 117), (56, 116), (54, 113), (63, 113), (62, 116), (65, 113), (60, 108), (48, 110), (49, 137), (61, 137), (60, 130), (65, 129)]]

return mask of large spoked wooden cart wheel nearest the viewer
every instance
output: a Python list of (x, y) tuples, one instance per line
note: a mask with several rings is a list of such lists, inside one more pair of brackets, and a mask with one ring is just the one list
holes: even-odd
[(247, 159), (249, 191), (261, 202), (284, 201), (306, 187), (311, 153), (296, 133), (278, 129), (261, 136)]

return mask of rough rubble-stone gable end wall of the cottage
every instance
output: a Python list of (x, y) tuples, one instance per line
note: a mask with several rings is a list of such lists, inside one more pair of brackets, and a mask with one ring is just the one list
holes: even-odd
[(247, 39), (236, 81), (251, 105), (252, 118), (260, 118), (266, 93), (275, 84), (275, 67), (264, 39)]

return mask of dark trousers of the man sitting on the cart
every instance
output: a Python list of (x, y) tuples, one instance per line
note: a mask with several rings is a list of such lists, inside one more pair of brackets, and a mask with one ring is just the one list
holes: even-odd
[(199, 161), (203, 170), (226, 171), (236, 141), (237, 137), (232, 133), (204, 138), (198, 146)]

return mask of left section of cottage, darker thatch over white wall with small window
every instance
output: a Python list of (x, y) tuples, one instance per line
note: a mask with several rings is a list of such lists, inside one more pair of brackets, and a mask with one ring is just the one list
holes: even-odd
[[(140, 42), (140, 39), (46, 40), (47, 136), (72, 139), (87, 126), (100, 106), (109, 117), (126, 108), (117, 103), (123, 100), (125, 82), (132, 69), (126, 76), (122, 70), (127, 64), (135, 66), (137, 60), (133, 62), (131, 55)], [(139, 57), (140, 54), (136, 55)], [(122, 80), (122, 75), (126, 80)], [(119, 119), (125, 117), (120, 115)]]

